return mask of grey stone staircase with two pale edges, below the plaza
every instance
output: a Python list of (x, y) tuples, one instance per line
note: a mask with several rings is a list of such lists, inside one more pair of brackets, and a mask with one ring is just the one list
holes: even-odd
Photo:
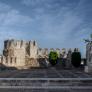
[(39, 90), (32, 92), (42, 92), (41, 90), (45, 90), (45, 92), (57, 92), (57, 90), (64, 90), (62, 92), (77, 92), (74, 90), (87, 92), (89, 90), (88, 92), (92, 92), (92, 78), (1, 78), (1, 89)]

